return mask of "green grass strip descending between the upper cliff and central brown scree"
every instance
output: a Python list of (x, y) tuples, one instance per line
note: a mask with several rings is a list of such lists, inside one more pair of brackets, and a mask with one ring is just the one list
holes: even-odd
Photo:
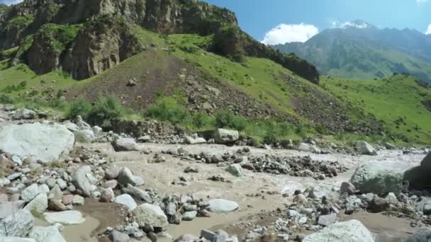
[[(280, 73), (292, 76), (304, 86), (319, 88), (269, 59), (247, 57), (245, 63), (238, 63), (200, 49), (198, 46), (205, 45), (208, 38), (198, 35), (169, 35), (169, 41), (178, 47), (173, 55), (200, 67), (204, 76), (208, 74), (212, 79), (226, 81), (230, 86), (284, 113), (296, 115), (291, 108), (290, 93), (301, 90), (293, 90), (281, 78)], [(192, 51), (183, 51), (184, 47)]]

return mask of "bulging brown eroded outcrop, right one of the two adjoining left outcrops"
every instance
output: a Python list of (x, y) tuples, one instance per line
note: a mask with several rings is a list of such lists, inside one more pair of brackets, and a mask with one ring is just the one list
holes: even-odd
[(61, 59), (61, 66), (74, 79), (82, 80), (114, 67), (141, 49), (124, 23), (100, 18), (79, 32)]

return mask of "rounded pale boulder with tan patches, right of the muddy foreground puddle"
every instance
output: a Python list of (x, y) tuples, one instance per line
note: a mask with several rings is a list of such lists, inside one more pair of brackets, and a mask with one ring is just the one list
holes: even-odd
[(166, 215), (162, 209), (155, 204), (140, 204), (133, 210), (133, 215), (140, 227), (147, 225), (166, 229), (169, 225)]

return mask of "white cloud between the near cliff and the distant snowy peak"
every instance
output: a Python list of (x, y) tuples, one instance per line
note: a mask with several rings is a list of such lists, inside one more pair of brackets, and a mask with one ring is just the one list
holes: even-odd
[(262, 43), (265, 45), (278, 45), (286, 42), (306, 42), (318, 33), (319, 29), (315, 25), (281, 23), (265, 34)]

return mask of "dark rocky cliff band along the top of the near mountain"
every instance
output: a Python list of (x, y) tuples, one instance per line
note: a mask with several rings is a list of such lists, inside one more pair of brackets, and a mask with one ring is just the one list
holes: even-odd
[[(0, 6), (0, 50), (20, 45), (12, 63), (26, 62), (37, 74), (59, 68), (86, 79), (140, 51), (128, 24), (162, 34), (215, 34), (213, 52), (272, 59), (318, 83), (318, 72), (308, 62), (243, 33), (232, 11), (196, 0), (24, 0)], [(77, 25), (79, 33), (69, 28)]]

